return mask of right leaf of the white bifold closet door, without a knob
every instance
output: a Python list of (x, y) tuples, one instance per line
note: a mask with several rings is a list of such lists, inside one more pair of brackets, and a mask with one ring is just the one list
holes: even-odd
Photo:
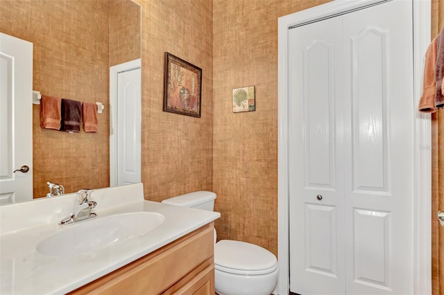
[(411, 6), (343, 16), (347, 294), (413, 293)]

